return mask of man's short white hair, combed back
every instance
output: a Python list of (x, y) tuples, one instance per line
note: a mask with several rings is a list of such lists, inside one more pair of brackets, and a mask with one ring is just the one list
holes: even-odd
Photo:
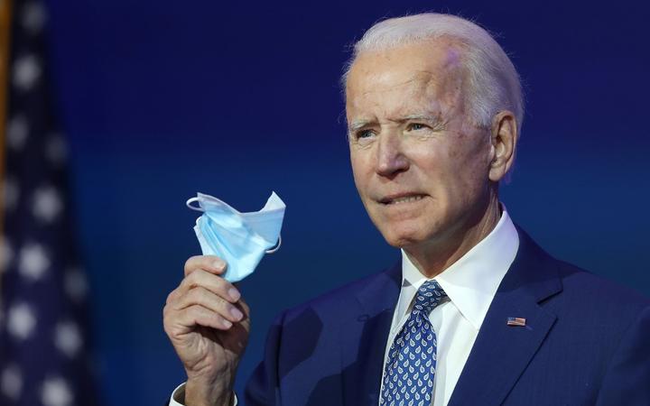
[(509, 110), (521, 130), (524, 97), (515, 66), (494, 38), (476, 23), (450, 14), (415, 14), (376, 23), (354, 45), (342, 77), (343, 88), (357, 56), (414, 42), (450, 38), (462, 44), (462, 60), (469, 76), (465, 100), (474, 124), (490, 128), (500, 111)]

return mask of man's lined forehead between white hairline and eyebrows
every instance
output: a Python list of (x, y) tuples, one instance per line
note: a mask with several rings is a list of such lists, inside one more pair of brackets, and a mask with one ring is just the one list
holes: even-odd
[(423, 98), (457, 99), (466, 77), (461, 52), (460, 44), (447, 39), (361, 52), (348, 73), (348, 113), (375, 102), (397, 107)]

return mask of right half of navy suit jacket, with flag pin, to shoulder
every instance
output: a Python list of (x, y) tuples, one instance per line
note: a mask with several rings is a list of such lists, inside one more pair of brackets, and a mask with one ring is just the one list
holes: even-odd
[[(552, 258), (517, 231), (515, 262), (449, 405), (650, 404), (650, 301)], [(508, 326), (509, 317), (525, 326)], [(629, 401), (614, 401), (622, 393)]]

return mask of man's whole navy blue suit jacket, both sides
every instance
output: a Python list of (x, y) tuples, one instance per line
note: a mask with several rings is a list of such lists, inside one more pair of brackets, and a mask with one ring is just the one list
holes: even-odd
[[(650, 301), (523, 231), (449, 406), (650, 405)], [(246, 406), (376, 406), (401, 267), (276, 320)], [(506, 325), (525, 318), (525, 327)], [(241, 401), (241, 399), (240, 399)]]

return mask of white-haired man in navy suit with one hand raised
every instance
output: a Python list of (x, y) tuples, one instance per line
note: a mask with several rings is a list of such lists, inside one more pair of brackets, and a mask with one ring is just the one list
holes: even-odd
[[(506, 53), (444, 14), (386, 20), (345, 76), (352, 170), (402, 263), (286, 311), (247, 405), (648, 405), (650, 302), (545, 254), (498, 200), (523, 119)], [(249, 309), (192, 257), (164, 326), (172, 404), (228, 405)]]

